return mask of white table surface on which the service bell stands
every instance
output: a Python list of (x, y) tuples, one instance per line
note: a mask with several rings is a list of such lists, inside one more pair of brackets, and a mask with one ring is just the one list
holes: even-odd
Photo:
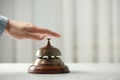
[(67, 64), (67, 74), (29, 74), (29, 65), (0, 64), (0, 80), (120, 80), (120, 64)]

